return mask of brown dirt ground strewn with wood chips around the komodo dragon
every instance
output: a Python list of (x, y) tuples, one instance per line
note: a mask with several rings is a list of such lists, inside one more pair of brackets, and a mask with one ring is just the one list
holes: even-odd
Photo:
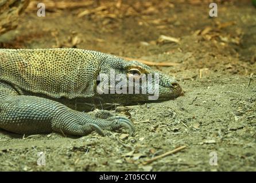
[[(127, 113), (134, 137), (125, 131), (71, 138), (1, 130), (1, 171), (256, 170), (251, 1), (216, 1), (218, 17), (209, 17), (208, 1), (85, 1), (86, 7), (40, 2), (45, 17), (37, 17), (37, 2), (31, 2), (20, 26), (0, 37), (1, 48), (77, 47), (174, 63), (153, 68), (179, 79), (185, 96), (133, 106)], [(162, 41), (160, 35), (176, 39)], [(144, 163), (180, 146), (186, 148)], [(38, 152), (44, 152), (45, 166), (37, 165)], [(218, 165), (210, 163), (215, 157)]]

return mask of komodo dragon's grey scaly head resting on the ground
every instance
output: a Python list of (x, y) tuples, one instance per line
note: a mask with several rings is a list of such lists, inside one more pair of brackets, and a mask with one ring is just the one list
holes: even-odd
[(95, 83), (104, 103), (138, 104), (174, 99), (183, 91), (174, 77), (137, 62), (107, 55)]

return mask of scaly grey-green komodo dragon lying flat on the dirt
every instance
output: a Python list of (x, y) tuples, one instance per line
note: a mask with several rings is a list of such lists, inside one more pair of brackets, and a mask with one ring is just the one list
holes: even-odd
[(82, 111), (107, 104), (138, 104), (149, 94), (99, 94), (97, 76), (159, 74), (158, 101), (180, 96), (176, 80), (137, 61), (83, 49), (0, 49), (0, 128), (18, 134), (52, 131), (84, 136), (132, 122), (107, 110), (92, 116)]

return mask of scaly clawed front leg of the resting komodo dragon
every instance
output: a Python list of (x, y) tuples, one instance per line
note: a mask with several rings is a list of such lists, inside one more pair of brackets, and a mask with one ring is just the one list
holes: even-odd
[(125, 117), (107, 119), (91, 117), (59, 102), (36, 96), (22, 96), (0, 87), (0, 128), (19, 134), (49, 133), (84, 136), (92, 131), (103, 135), (101, 129), (127, 128), (133, 124)]

